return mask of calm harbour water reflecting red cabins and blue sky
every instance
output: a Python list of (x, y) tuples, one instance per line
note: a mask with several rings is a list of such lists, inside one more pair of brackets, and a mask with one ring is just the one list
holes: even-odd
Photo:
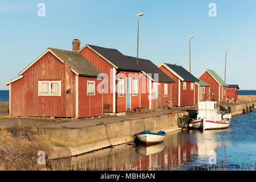
[(256, 111), (231, 119), (224, 130), (168, 133), (151, 147), (122, 144), (70, 159), (56, 160), (62, 169), (110, 170), (254, 170)]

